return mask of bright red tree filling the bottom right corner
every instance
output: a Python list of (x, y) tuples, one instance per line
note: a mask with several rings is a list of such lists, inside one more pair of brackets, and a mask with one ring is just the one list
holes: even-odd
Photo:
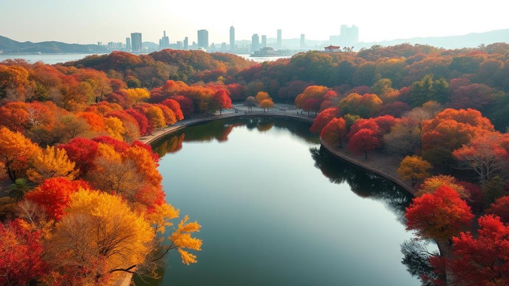
[(456, 283), (467, 286), (506, 285), (509, 283), (509, 226), (498, 216), (479, 218), (479, 230), (453, 237), (450, 270)]

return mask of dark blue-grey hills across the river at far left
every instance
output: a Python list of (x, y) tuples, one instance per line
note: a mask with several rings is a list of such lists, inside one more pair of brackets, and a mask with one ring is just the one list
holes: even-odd
[(18, 42), (0, 36), (0, 50), (4, 53), (98, 53), (105, 52), (98, 45), (66, 44), (62, 42)]

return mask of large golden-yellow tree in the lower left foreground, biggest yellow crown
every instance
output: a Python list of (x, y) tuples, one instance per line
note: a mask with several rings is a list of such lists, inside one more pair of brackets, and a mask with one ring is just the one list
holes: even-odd
[(143, 263), (153, 240), (149, 222), (122, 197), (80, 189), (55, 225), (48, 262), (71, 284), (109, 284), (104, 280), (116, 280), (124, 269)]

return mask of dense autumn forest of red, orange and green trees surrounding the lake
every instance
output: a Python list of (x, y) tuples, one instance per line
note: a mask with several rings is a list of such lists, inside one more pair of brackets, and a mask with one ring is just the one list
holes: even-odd
[[(165, 201), (142, 136), (232, 102), (294, 103), (311, 131), (360, 158), (402, 156), (418, 240), (404, 264), (424, 285), (509, 283), (509, 45), (373, 46), (254, 63), (202, 51), (112, 52), (0, 63), (0, 284), (114, 285), (185, 264), (200, 225)], [(175, 145), (180, 145), (175, 142)], [(176, 147), (178, 148), (178, 146)], [(192, 214), (190, 214), (192, 216)], [(442, 253), (420, 241), (433, 239)], [(416, 263), (417, 262), (417, 263)]]

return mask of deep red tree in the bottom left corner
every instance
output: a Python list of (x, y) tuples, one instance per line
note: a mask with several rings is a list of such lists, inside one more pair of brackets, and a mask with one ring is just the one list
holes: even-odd
[(22, 227), (22, 221), (0, 223), (0, 284), (36, 284), (47, 270), (41, 232)]

